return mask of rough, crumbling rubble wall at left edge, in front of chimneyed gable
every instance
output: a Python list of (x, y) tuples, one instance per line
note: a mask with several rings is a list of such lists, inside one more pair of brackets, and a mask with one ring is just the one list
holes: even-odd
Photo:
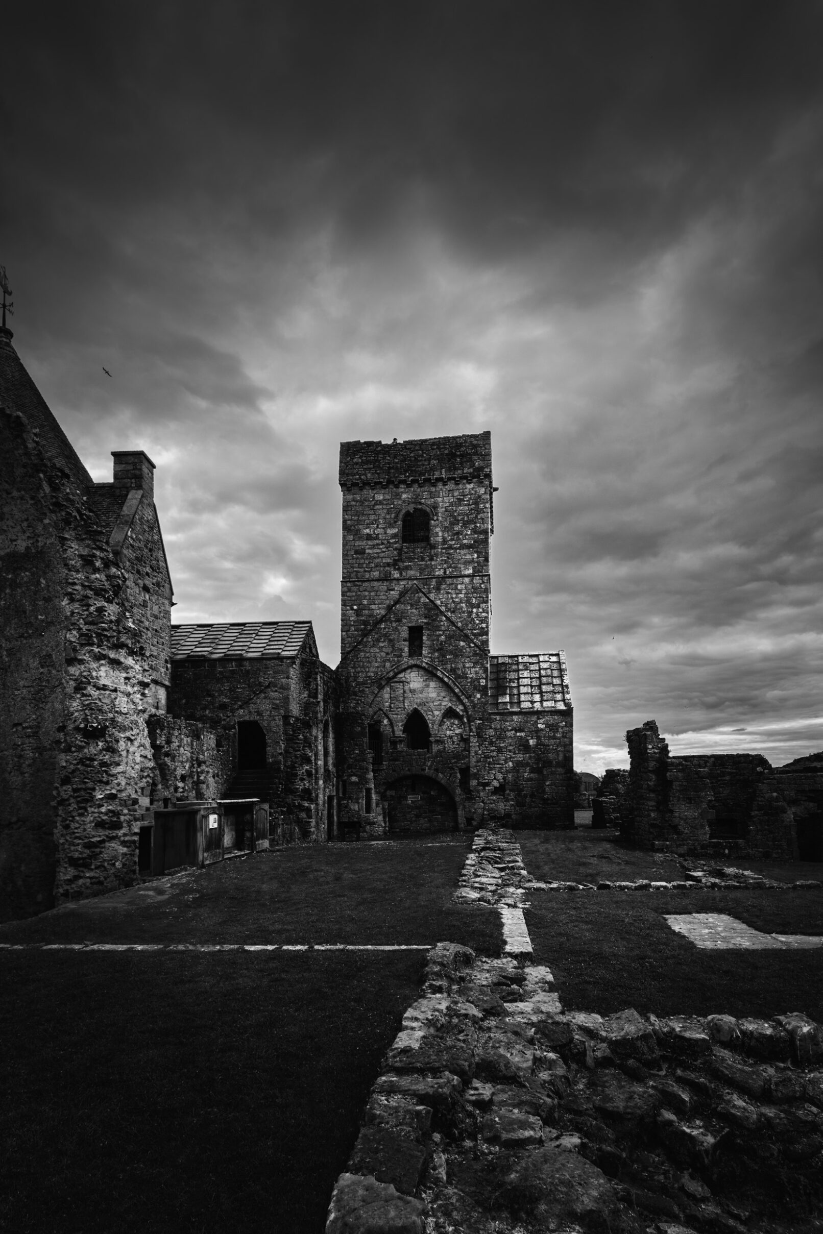
[[(44, 405), (39, 413), (46, 431), (51, 413)], [(86, 486), (41, 448), (25, 417), (4, 426), (4, 545), (12, 552), (4, 560), (4, 702), (15, 702), (4, 738), (11, 893), (2, 913), (20, 916), (136, 877), (152, 782), (152, 673), (126, 571)], [(32, 568), (42, 571), (35, 590)]]

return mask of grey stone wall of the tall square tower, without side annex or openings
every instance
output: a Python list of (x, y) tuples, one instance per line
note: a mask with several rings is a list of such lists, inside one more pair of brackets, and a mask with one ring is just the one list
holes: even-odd
[[(339, 481), (341, 826), (383, 833), (397, 800), (391, 786), (402, 781), (411, 790), (421, 776), (421, 818), (431, 792), (445, 789), (463, 824), (486, 701), (491, 434), (343, 442)], [(403, 544), (403, 513), (421, 507), (429, 513), (431, 540)], [(423, 631), (422, 654), (410, 654), (415, 626)], [(429, 750), (406, 748), (403, 723), (412, 710), (428, 723)], [(369, 722), (381, 728), (378, 763), (368, 749)]]

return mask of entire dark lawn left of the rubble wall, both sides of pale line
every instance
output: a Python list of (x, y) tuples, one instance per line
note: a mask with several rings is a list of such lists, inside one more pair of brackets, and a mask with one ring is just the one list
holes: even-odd
[[(421, 943), (497, 955), (457, 843), (281, 849), (0, 942)], [(415, 953), (0, 951), (0, 1230), (322, 1234)]]

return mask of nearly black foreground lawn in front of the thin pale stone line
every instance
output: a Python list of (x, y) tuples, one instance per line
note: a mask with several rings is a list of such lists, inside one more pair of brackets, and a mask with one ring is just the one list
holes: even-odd
[(321, 1234), (423, 964), (0, 955), (0, 1229)]

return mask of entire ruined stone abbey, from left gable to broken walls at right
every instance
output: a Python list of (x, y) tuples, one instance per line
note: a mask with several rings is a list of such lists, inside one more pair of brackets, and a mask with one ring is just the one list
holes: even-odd
[[(564, 653), (490, 649), (489, 432), (341, 444), (331, 669), (308, 619), (172, 624), (154, 464), (112, 450), (95, 482), (11, 338), (0, 919), (270, 844), (574, 827)], [(684, 851), (818, 851), (817, 764), (703, 766), (669, 759), (653, 724), (628, 738), (632, 770), (607, 772), (596, 826)]]

